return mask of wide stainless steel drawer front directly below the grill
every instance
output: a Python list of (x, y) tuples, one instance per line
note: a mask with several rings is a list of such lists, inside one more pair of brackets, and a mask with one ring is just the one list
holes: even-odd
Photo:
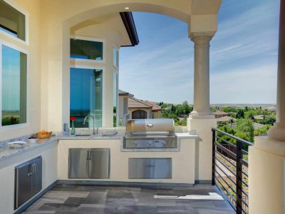
[(172, 178), (172, 158), (129, 158), (130, 179)]

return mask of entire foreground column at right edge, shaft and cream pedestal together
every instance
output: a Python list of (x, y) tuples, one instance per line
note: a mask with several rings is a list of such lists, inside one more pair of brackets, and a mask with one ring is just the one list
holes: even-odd
[(285, 213), (285, 0), (281, 0), (277, 121), (249, 146), (249, 213)]

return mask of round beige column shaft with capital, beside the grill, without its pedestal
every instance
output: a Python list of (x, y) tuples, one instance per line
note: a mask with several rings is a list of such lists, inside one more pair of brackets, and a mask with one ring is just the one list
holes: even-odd
[(209, 41), (214, 32), (192, 33), (194, 56), (194, 107), (190, 118), (212, 117), (209, 110)]

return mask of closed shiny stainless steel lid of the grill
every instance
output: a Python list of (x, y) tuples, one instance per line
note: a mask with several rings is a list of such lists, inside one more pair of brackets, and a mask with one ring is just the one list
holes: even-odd
[(174, 121), (167, 118), (128, 120), (126, 131), (130, 133), (147, 131), (174, 133)]

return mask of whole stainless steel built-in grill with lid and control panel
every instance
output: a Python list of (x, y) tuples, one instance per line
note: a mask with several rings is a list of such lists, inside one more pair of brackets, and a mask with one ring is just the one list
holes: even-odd
[(128, 120), (124, 148), (177, 148), (173, 119)]

